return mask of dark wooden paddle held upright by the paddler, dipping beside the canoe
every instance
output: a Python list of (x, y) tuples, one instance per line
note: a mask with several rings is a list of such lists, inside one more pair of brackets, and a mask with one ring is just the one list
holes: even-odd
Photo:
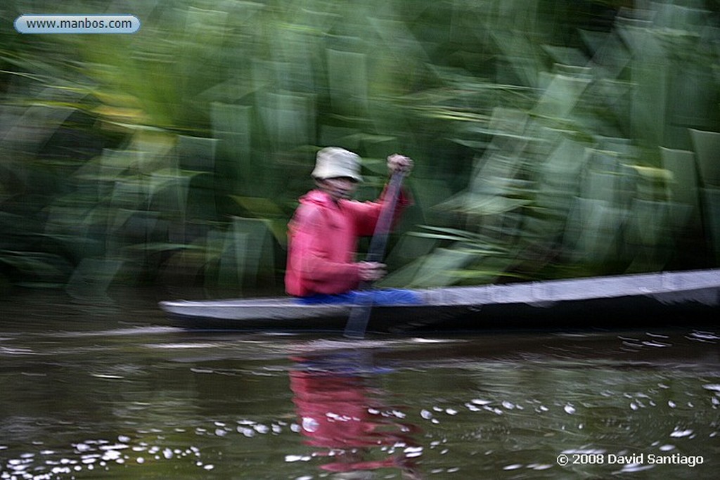
[[(379, 262), (385, 253), (387, 245), (387, 236), (390, 234), (390, 226), (392, 225), (392, 217), (395, 214), (395, 205), (397, 197), (400, 194), (400, 185), (402, 178), (405, 177), (404, 171), (396, 171), (390, 177), (390, 185), (385, 192), (384, 204), (380, 212), (380, 216), (375, 224), (375, 231), (370, 240), (370, 248), (367, 250), (365, 261)], [(372, 281), (363, 281), (359, 287), (360, 290), (372, 289)], [(370, 312), (372, 312), (372, 297), (360, 297), (360, 302), (354, 304), (348, 317), (348, 323), (345, 326), (344, 335), (346, 338), (362, 339), (365, 338), (365, 329), (367, 322), (370, 320)]]

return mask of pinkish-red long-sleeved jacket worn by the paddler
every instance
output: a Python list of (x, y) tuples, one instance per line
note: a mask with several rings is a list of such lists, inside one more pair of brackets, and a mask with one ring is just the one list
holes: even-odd
[[(300, 198), (288, 225), (285, 290), (294, 296), (341, 294), (360, 284), (358, 237), (372, 235), (382, 210), (377, 201), (340, 200), (312, 190)], [(411, 201), (400, 194), (395, 219)]]

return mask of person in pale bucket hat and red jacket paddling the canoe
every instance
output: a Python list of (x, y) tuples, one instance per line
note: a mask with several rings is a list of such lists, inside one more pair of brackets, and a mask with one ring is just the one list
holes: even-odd
[[(390, 155), (387, 168), (390, 174), (409, 173), (413, 160)], [(360, 157), (343, 148), (320, 150), (312, 177), (316, 188), (300, 197), (288, 225), (285, 289), (290, 295), (319, 302), (352, 301), (348, 294), (362, 281), (376, 281), (385, 274), (383, 263), (355, 258), (358, 238), (373, 235), (385, 191), (376, 201), (351, 200), (362, 181)], [(400, 192), (395, 219), (410, 203)]]

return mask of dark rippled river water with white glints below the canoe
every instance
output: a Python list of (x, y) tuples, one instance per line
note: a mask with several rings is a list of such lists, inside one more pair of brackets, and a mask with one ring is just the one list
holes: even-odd
[(0, 309), (0, 479), (715, 479), (720, 467), (720, 330), (350, 343), (181, 332), (153, 302), (35, 295)]

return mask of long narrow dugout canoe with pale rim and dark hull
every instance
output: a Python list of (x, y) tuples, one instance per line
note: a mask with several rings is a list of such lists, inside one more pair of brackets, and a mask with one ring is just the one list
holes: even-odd
[[(374, 306), (368, 332), (715, 326), (720, 269), (416, 290), (421, 304)], [(342, 333), (353, 304), (291, 297), (161, 302), (171, 325)]]

